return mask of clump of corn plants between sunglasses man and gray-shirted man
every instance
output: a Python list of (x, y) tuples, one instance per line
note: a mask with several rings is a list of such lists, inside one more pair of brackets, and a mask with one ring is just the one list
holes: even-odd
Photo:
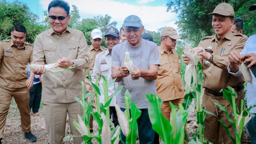
[[(92, 144), (92, 138), (96, 138), (99, 144), (118, 144), (119, 137), (120, 137), (120, 126), (116, 126), (114, 128), (114, 124), (110, 121), (110, 114), (109, 114), (109, 106), (112, 98), (116, 96), (119, 92), (121, 92), (123, 86), (118, 86), (115, 92), (112, 94), (111, 98), (108, 98), (108, 86), (114, 84), (115, 80), (111, 80), (108, 82), (106, 76), (102, 76), (103, 78), (103, 88), (104, 88), (104, 100), (105, 104), (99, 103), (99, 98), (97, 98), (97, 108), (102, 111), (97, 110), (97, 112), (92, 112), (92, 104), (94, 100), (94, 96), (100, 96), (100, 89), (98, 84), (92, 84), (95, 92), (84, 92), (84, 83), (82, 83), (82, 100), (79, 98), (75, 98), (75, 100), (82, 106), (83, 108), (83, 116), (78, 115), (78, 122), (75, 120), (73, 121), (74, 126), (80, 132), (82, 136), (82, 144)], [(91, 81), (91, 79), (90, 79)], [(98, 77), (96, 76), (96, 82), (98, 82)], [(90, 100), (88, 98), (90, 97)], [(88, 100), (88, 104), (86, 103)], [(98, 123), (98, 133), (91, 136), (90, 129), (89, 129), (89, 122), (90, 122), (90, 114), (93, 115), (94, 119)], [(110, 128), (110, 126), (112, 126)], [(114, 131), (113, 131), (114, 130)], [(111, 134), (111, 132), (113, 133)], [(76, 136), (66, 136), (63, 140), (68, 140), (71, 137)]]

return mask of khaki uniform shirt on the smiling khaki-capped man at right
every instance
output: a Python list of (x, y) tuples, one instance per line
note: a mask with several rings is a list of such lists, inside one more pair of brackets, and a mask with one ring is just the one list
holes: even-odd
[(248, 39), (242, 34), (233, 34), (231, 31), (220, 41), (217, 36), (204, 37), (198, 46), (206, 49), (213, 54), (213, 60), (210, 60), (210, 66), (205, 65), (205, 59), (200, 58), (204, 73), (204, 88), (219, 91), (228, 86), (239, 86), (244, 84), (242, 76), (233, 76), (228, 73), (228, 55), (232, 50), (241, 52)]

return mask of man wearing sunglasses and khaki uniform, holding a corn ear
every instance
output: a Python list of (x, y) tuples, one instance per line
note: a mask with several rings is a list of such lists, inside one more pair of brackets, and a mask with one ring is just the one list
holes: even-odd
[[(38, 34), (34, 42), (34, 62), (56, 63), (60, 68), (74, 67), (58, 74), (44, 74), (44, 66), (34, 70), (35, 74), (44, 74), (42, 103), (50, 144), (63, 143), (67, 113), (72, 135), (81, 135), (73, 120), (78, 121), (77, 115), (82, 115), (83, 110), (74, 97), (81, 99), (82, 96), (80, 82), (85, 82), (83, 69), (88, 64), (88, 49), (84, 34), (68, 27), (69, 10), (69, 4), (63, 0), (50, 2), (48, 13), (51, 28)], [(82, 141), (81, 137), (73, 139), (75, 144)]]

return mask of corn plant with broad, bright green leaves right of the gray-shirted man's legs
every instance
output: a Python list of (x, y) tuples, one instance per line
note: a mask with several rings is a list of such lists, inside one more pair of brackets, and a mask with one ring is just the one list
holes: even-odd
[(146, 95), (149, 100), (148, 115), (152, 128), (161, 136), (161, 144), (183, 144), (185, 125), (190, 109), (184, 109), (182, 104), (177, 106), (170, 102), (172, 111), (172, 124), (164, 118), (161, 110), (162, 100), (154, 94)]

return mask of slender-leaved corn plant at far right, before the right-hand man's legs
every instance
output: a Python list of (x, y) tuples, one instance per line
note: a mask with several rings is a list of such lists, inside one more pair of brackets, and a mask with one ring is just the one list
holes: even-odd
[(227, 115), (228, 121), (231, 122), (232, 127), (235, 130), (235, 139), (230, 135), (229, 128), (224, 124), (224, 122), (218, 116), (216, 116), (215, 114), (210, 113), (210, 112), (207, 112), (207, 113), (212, 114), (218, 118), (218, 121), (220, 122), (220, 124), (222, 124), (222, 126), (226, 130), (226, 133), (229, 135), (229, 137), (232, 141), (232, 144), (241, 144), (241, 136), (242, 136), (243, 128), (249, 122), (249, 120), (252, 118), (252, 116), (254, 116), (254, 114), (250, 113), (249, 111), (255, 105), (250, 106), (250, 108), (248, 108), (246, 110), (246, 109), (244, 109), (244, 100), (242, 100), (241, 108), (239, 110), (236, 105), (236, 101), (235, 101), (237, 94), (236, 94), (236, 91), (234, 90), (234, 88), (228, 86), (228, 90), (222, 89), (222, 92), (223, 92), (223, 97), (226, 100), (228, 100), (228, 102), (230, 103), (230, 106), (232, 106), (232, 109), (233, 109), (232, 115), (234, 116), (234, 120), (232, 120), (230, 118), (230, 116), (228, 114), (228, 110), (226, 110), (226, 108), (224, 108), (224, 106), (220, 105), (217, 100), (214, 102), (214, 104), (216, 106), (218, 106), (220, 108), (220, 110), (223, 110), (225, 112), (225, 114)]

